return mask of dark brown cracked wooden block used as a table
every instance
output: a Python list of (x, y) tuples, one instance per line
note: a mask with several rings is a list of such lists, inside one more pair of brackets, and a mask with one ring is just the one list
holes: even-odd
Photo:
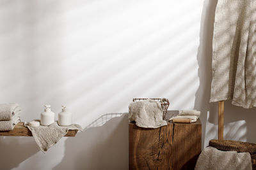
[(157, 129), (130, 122), (129, 169), (194, 169), (201, 152), (201, 136), (200, 120), (192, 124), (168, 122)]

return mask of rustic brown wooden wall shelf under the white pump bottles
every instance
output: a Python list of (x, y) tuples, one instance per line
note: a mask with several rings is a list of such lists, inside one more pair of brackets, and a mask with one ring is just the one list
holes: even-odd
[[(76, 133), (77, 130), (70, 130), (65, 137), (74, 137)], [(15, 125), (13, 131), (1, 131), (0, 136), (32, 136), (32, 133), (29, 131), (28, 127), (24, 127), (23, 122), (19, 122), (19, 124)]]

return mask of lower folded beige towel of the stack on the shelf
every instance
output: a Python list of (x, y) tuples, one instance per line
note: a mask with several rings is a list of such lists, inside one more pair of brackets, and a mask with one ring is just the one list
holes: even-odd
[(12, 120), (0, 121), (0, 131), (12, 131), (15, 125), (20, 122), (20, 111), (15, 113)]

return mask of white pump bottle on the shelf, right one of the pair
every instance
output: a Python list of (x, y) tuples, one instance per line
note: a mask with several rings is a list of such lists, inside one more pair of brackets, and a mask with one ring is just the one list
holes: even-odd
[(58, 124), (60, 126), (72, 125), (72, 113), (70, 113), (66, 106), (62, 106), (62, 112), (58, 114)]

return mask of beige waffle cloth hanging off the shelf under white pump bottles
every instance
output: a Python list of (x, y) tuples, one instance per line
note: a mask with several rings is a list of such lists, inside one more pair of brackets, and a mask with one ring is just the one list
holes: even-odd
[(59, 126), (57, 122), (54, 122), (49, 126), (40, 125), (38, 127), (31, 127), (27, 123), (25, 123), (25, 126), (32, 132), (36, 144), (44, 153), (47, 152), (51, 146), (55, 145), (55, 143), (57, 143), (63, 136), (65, 136), (68, 130), (83, 131), (80, 125), (73, 124), (64, 127)]

